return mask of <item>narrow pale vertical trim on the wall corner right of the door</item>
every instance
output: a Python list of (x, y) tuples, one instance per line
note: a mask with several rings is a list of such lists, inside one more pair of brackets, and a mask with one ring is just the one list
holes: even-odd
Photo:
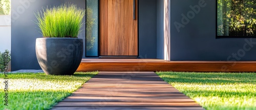
[(164, 60), (170, 60), (170, 0), (164, 0)]

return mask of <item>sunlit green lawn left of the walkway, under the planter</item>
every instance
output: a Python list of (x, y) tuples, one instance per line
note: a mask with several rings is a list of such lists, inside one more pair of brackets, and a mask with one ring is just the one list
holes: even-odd
[(97, 73), (77, 72), (72, 76), (45, 73), (8, 74), (8, 106), (4, 105), (4, 75), (0, 74), (0, 109), (49, 109)]

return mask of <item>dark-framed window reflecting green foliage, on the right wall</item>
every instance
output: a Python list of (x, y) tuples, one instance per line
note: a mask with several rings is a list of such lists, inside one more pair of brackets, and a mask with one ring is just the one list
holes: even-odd
[(256, 37), (256, 0), (217, 0), (217, 37)]

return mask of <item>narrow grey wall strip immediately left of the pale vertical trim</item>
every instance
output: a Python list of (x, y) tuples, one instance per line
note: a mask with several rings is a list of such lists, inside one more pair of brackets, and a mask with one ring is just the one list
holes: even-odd
[(164, 59), (163, 0), (157, 0), (157, 58)]

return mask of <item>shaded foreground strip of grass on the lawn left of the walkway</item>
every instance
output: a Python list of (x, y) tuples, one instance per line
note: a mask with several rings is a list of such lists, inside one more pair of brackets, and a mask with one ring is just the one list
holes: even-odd
[(70, 96), (66, 91), (31, 91), (9, 92), (8, 106), (0, 105), (0, 108), (8, 109), (50, 109), (53, 105)]

